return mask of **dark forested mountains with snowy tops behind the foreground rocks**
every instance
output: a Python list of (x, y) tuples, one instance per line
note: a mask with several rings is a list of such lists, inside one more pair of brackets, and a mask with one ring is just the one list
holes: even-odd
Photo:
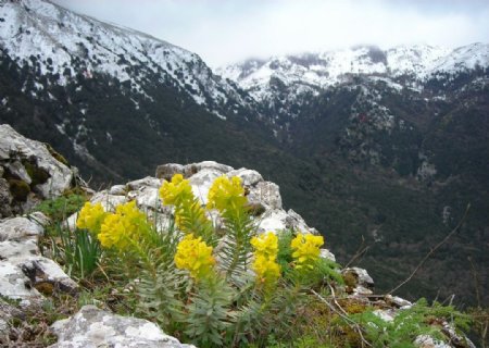
[[(178, 42), (174, 42), (178, 44)], [(198, 54), (49, 1), (0, 1), (0, 122), (95, 185), (215, 160), (280, 185), (379, 291), (489, 299), (489, 45), (356, 47), (249, 60)], [(471, 258), (471, 261), (468, 261)], [(473, 266), (471, 265), (473, 264)], [(477, 279), (474, 274), (476, 274)]]

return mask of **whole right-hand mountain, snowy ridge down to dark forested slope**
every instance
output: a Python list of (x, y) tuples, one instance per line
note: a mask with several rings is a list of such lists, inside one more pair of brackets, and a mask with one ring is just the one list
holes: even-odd
[(284, 149), (319, 169), (303, 185), (321, 198), (300, 213), (340, 259), (363, 244), (363, 265), (399, 283), (471, 203), (462, 231), (403, 290), (467, 303), (477, 286), (488, 298), (489, 45), (361, 47), (220, 72), (261, 104)]

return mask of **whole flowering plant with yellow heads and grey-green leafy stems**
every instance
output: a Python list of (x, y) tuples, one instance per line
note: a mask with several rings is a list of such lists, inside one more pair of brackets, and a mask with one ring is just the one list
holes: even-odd
[[(239, 178), (218, 177), (205, 209), (181, 175), (164, 182), (160, 194), (174, 207), (166, 229), (151, 224), (134, 201), (115, 213), (87, 203), (77, 222), (101, 243), (109, 276), (134, 285), (136, 311), (199, 347), (263, 346), (271, 334), (290, 336), (306, 298), (301, 282), (321, 263), (323, 238), (297, 234), (293, 253), (280, 237), (280, 259), (289, 260), (284, 268), (290, 275), (281, 277), (279, 238), (256, 236)], [(324, 269), (318, 268), (322, 275)]]

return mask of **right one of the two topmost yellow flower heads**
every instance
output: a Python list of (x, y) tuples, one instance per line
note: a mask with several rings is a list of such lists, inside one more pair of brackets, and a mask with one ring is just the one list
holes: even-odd
[(208, 209), (225, 210), (239, 209), (247, 203), (241, 179), (233, 176), (230, 179), (223, 175), (217, 177), (209, 189)]

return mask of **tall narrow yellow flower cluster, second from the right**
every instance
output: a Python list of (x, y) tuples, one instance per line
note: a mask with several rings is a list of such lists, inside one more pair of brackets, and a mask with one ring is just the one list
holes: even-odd
[(254, 249), (253, 270), (256, 279), (265, 285), (273, 285), (280, 277), (280, 265), (277, 263), (278, 238), (268, 232), (251, 238)]

